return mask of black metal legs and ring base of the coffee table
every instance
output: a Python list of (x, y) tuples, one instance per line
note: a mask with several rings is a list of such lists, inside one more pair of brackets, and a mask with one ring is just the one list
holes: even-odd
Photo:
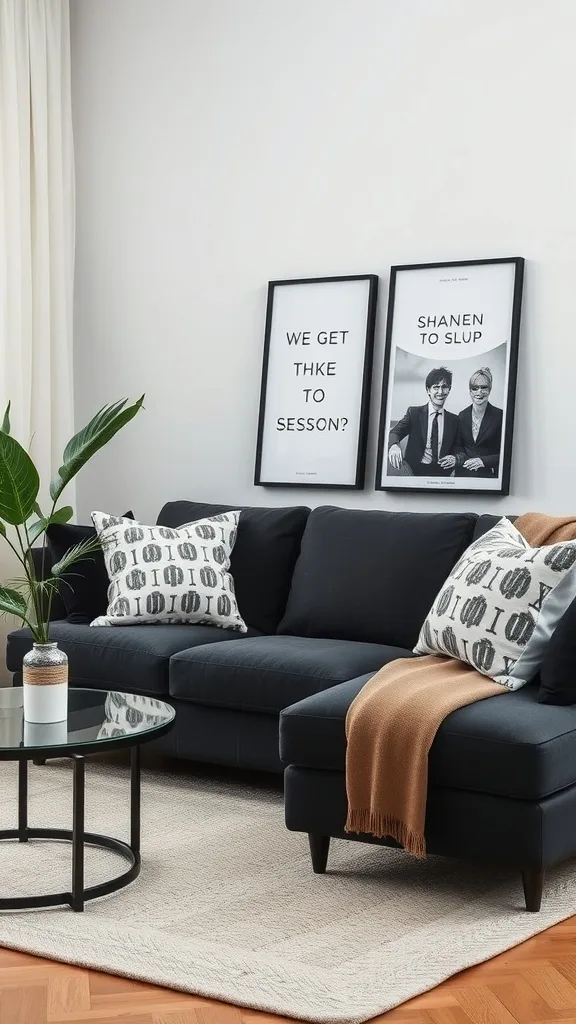
[[(0, 830), (0, 841), (52, 840), (72, 843), (72, 887), (70, 892), (46, 893), (40, 896), (0, 898), (0, 910), (35, 910), (40, 907), (69, 904), (73, 910), (83, 910), (84, 903), (123, 889), (140, 872), (140, 749), (130, 751), (130, 842), (99, 836), (84, 830), (85, 760), (80, 754), (70, 755), (74, 764), (73, 818), (69, 828), (31, 828), (28, 824), (28, 761), (18, 762), (18, 826)], [(124, 857), (129, 867), (109, 882), (84, 886), (84, 848), (95, 846), (112, 850)]]

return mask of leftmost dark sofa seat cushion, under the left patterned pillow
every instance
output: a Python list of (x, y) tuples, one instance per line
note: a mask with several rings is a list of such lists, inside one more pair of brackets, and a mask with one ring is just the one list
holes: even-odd
[[(250, 630), (246, 636), (254, 636)], [(70, 679), (77, 685), (95, 689), (113, 687), (129, 692), (168, 692), (168, 663), (172, 654), (188, 647), (210, 645), (238, 638), (210, 626), (75, 626), (51, 623), (50, 638), (56, 640), (69, 658)], [(241, 643), (243, 641), (240, 641)], [(22, 670), (22, 659), (32, 647), (30, 630), (14, 630), (8, 636), (6, 665), (10, 672)]]

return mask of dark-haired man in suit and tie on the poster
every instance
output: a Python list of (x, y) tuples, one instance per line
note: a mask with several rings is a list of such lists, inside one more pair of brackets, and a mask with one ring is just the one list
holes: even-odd
[(458, 417), (444, 409), (452, 387), (452, 374), (445, 367), (430, 370), (425, 380), (425, 406), (410, 406), (389, 432), (388, 461), (402, 466), (400, 441), (408, 437), (405, 462), (414, 476), (450, 476), (456, 465)]

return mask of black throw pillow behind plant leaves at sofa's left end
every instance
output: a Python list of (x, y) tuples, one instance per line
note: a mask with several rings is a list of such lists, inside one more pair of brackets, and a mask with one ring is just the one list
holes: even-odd
[[(124, 517), (133, 519), (134, 513), (125, 512)], [(75, 544), (95, 536), (93, 526), (76, 526), (72, 523), (48, 526), (46, 540), (51, 564), (59, 562)], [(72, 565), (59, 589), (68, 622), (85, 626), (98, 615), (106, 614), (109, 586), (102, 551), (93, 551), (91, 555)]]

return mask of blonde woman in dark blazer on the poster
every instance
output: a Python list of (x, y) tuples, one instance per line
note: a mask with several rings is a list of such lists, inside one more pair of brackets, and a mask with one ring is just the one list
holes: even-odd
[(478, 479), (498, 476), (502, 442), (502, 410), (488, 400), (492, 372), (477, 370), (469, 380), (471, 404), (458, 413), (459, 444), (456, 476)]

